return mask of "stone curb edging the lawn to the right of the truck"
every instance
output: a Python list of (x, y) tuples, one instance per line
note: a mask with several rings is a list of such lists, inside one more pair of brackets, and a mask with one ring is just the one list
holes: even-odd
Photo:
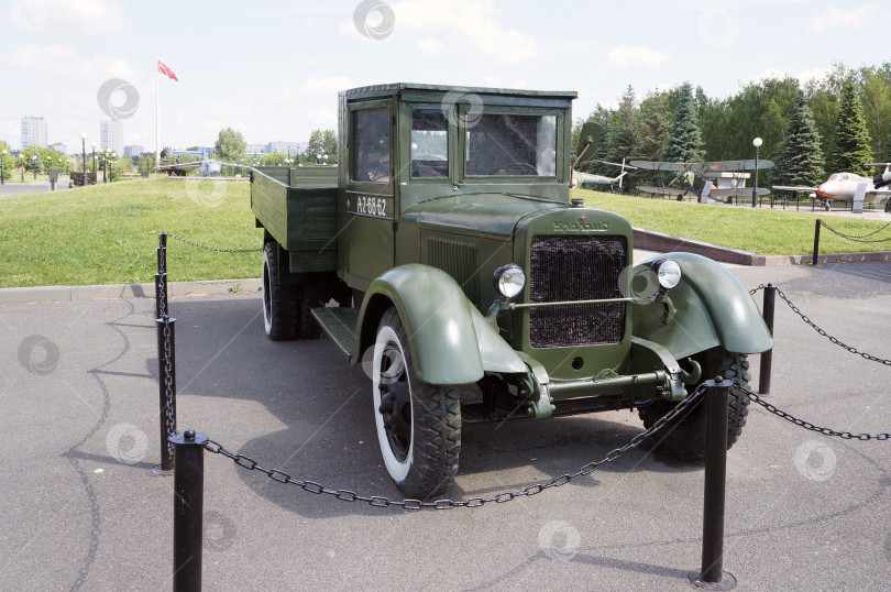
[[(634, 229), (635, 249), (647, 249), (669, 253), (671, 251), (683, 251), (685, 253), (696, 253), (723, 263), (735, 263), (737, 265), (748, 265), (751, 267), (763, 267), (774, 265), (804, 265), (813, 261), (812, 254), (807, 255), (759, 255), (749, 251), (738, 249), (727, 249), (707, 242), (692, 241), (644, 230)], [(891, 251), (872, 251), (868, 253), (826, 253), (817, 256), (820, 263), (851, 263), (860, 261), (891, 261)]]

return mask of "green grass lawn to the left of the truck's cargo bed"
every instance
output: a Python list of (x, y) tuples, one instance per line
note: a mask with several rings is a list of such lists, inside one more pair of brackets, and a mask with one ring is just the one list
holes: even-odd
[[(0, 199), (0, 287), (152, 282), (162, 230), (222, 249), (263, 240), (246, 182), (158, 177), (22, 194)], [(173, 281), (258, 277), (260, 259), (167, 241)]]

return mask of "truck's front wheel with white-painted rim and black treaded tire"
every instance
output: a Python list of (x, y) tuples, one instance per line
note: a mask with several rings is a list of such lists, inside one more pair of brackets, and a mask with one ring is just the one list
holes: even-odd
[(461, 452), (461, 403), (455, 386), (415, 376), (408, 339), (395, 308), (381, 318), (372, 390), (384, 464), (408, 497), (429, 500), (448, 490)]

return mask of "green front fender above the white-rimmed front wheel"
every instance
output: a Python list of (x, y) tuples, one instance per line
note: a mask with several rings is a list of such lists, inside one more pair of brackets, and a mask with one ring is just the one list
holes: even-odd
[(359, 311), (360, 339), (352, 360), (374, 344), (377, 324), (389, 306), (399, 313), (421, 382), (471, 384), (484, 372), (527, 371), (454, 278), (418, 263), (394, 267), (371, 283)]

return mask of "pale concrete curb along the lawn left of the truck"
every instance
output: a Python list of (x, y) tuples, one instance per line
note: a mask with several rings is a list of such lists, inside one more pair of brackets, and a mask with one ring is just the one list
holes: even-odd
[[(228, 294), (230, 292), (257, 292), (260, 290), (260, 278), (170, 282), (167, 293), (170, 297), (175, 297), (198, 294)], [(0, 304), (154, 297), (154, 283), (112, 284), (108, 286), (34, 286), (25, 288), (0, 288)]]

